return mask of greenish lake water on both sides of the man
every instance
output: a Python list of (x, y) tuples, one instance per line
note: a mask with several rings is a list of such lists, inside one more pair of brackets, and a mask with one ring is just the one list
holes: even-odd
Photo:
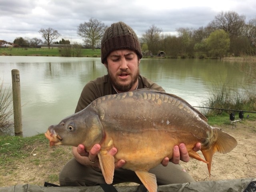
[[(242, 62), (197, 59), (149, 59), (140, 62), (143, 76), (192, 106), (203, 106), (213, 86), (225, 83), (243, 90)], [(23, 136), (46, 131), (74, 113), (84, 85), (107, 73), (100, 58), (0, 56), (0, 81), (12, 89), (11, 70), (20, 71)], [(255, 86), (251, 84), (251, 86)]]

